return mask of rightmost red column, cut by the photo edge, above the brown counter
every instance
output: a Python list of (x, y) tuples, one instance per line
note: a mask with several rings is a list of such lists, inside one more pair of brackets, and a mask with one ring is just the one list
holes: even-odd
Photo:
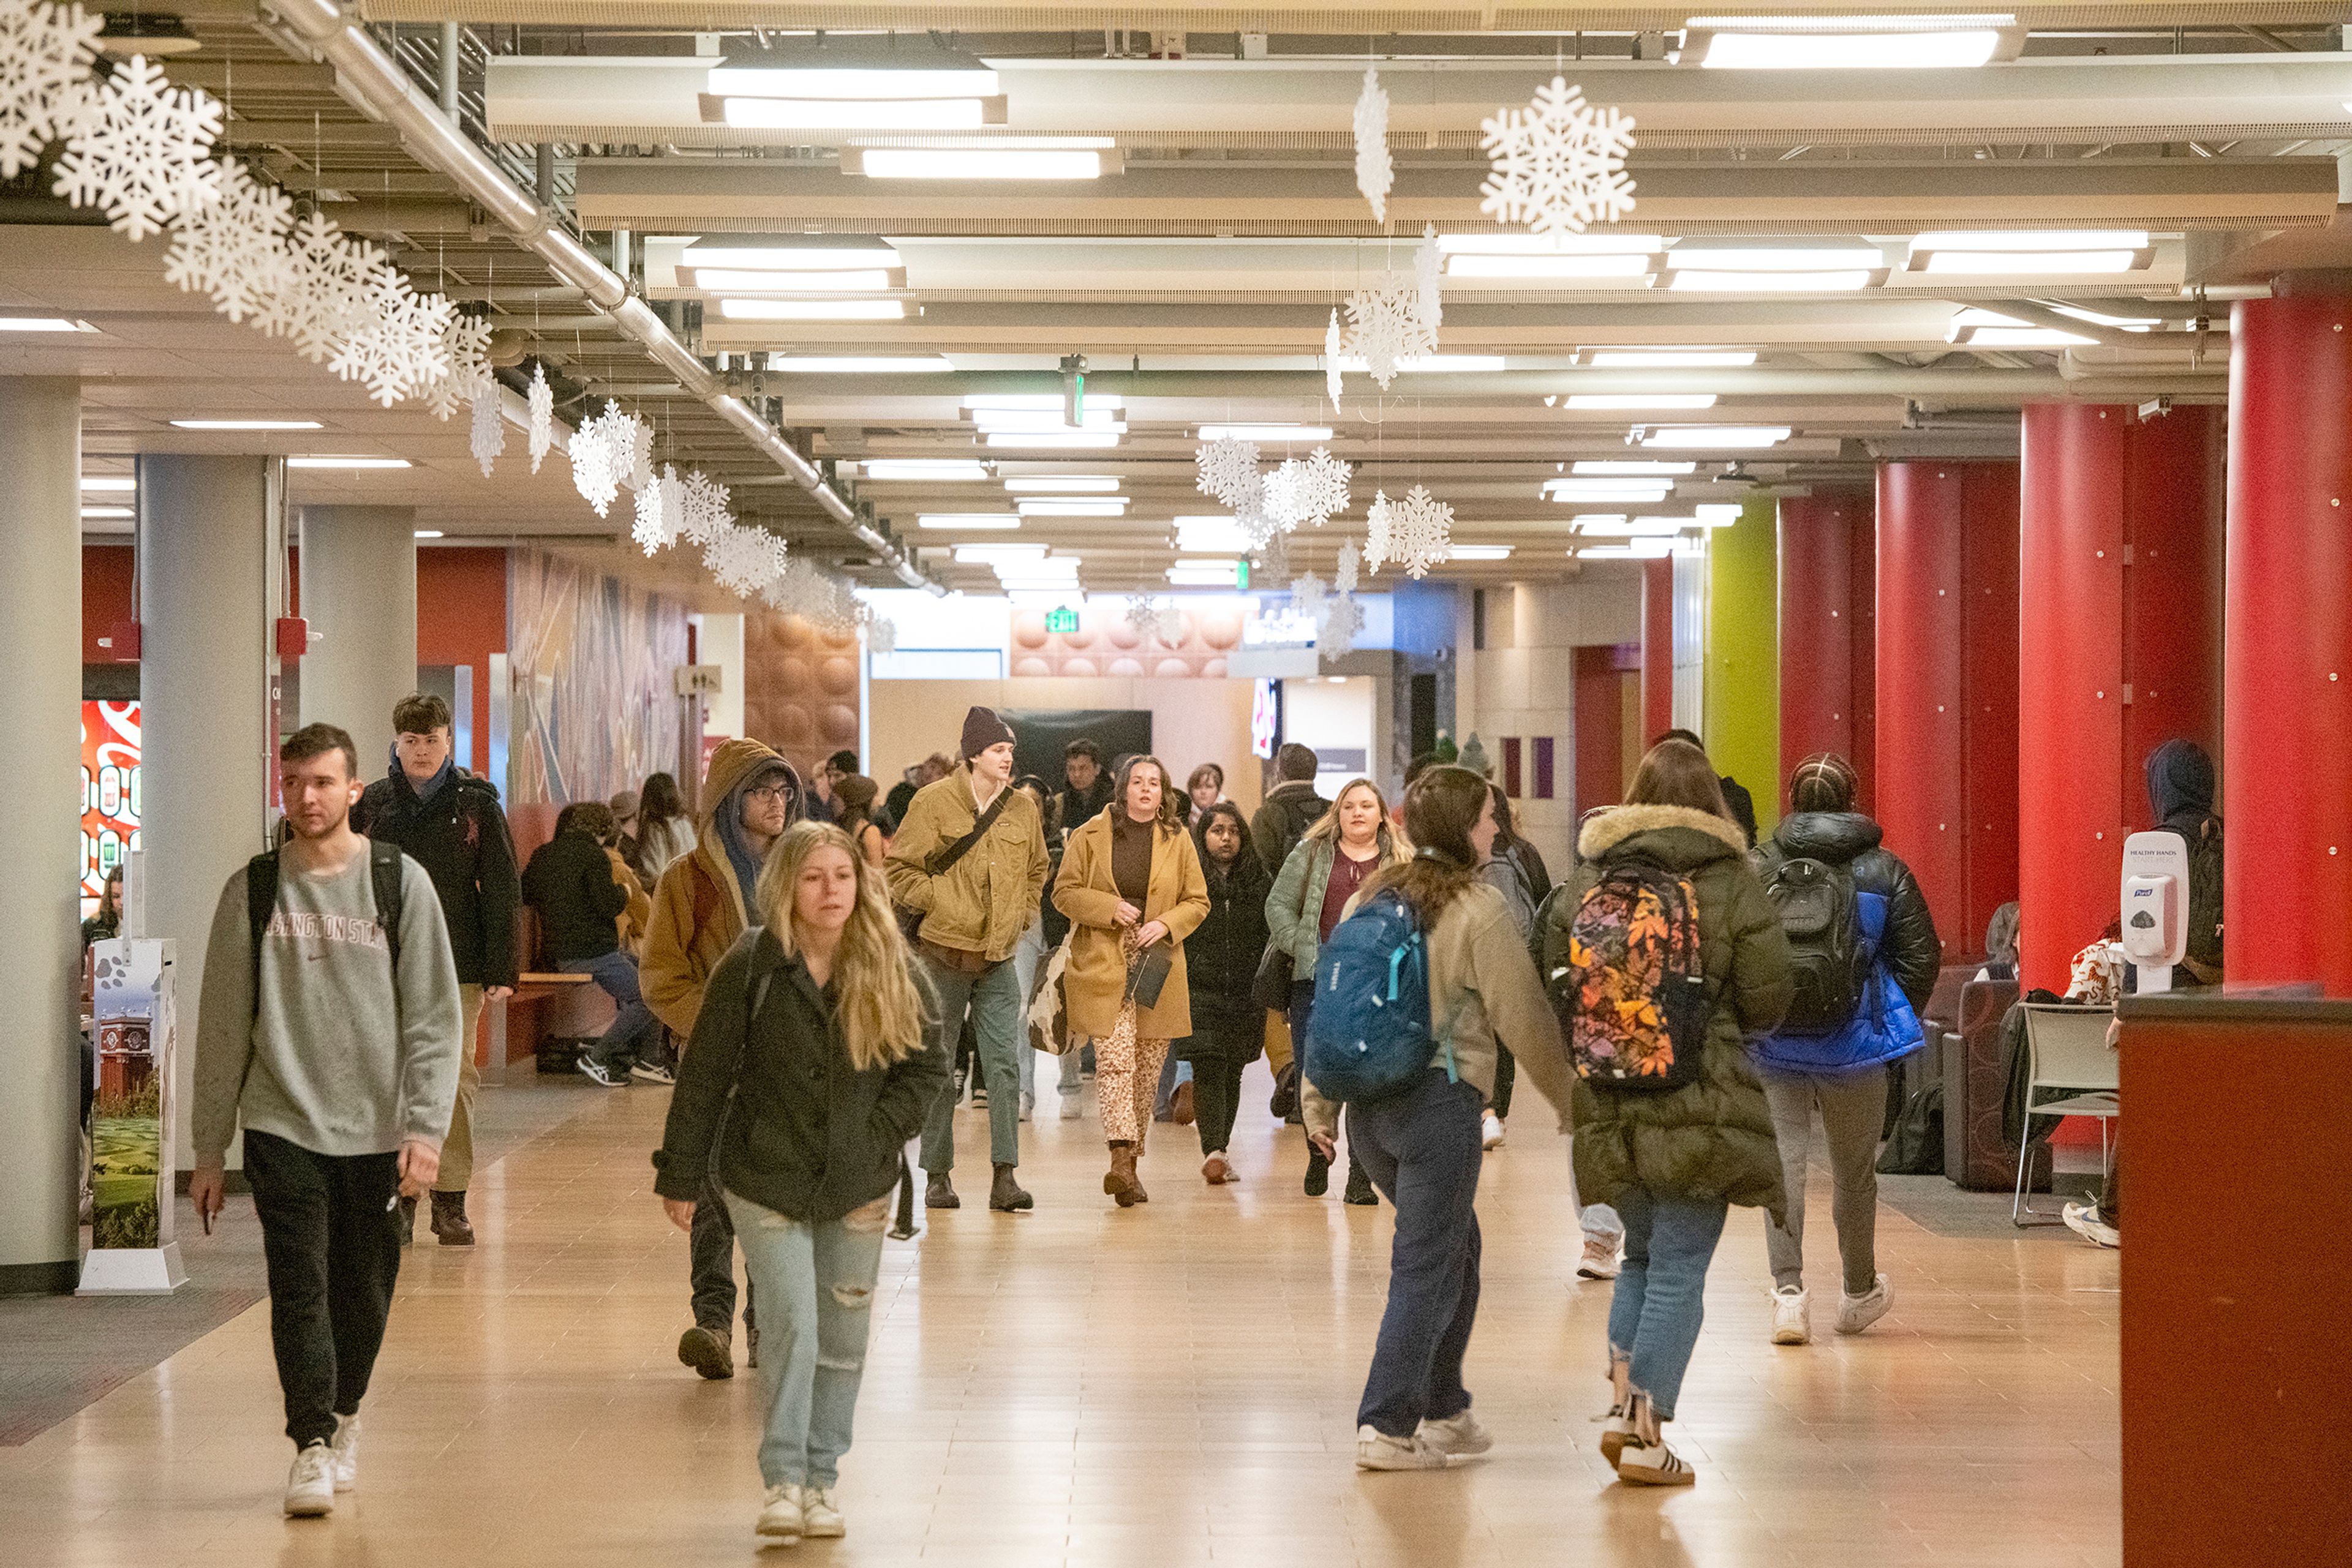
[(2230, 339), (2223, 966), (2352, 997), (2352, 299)]

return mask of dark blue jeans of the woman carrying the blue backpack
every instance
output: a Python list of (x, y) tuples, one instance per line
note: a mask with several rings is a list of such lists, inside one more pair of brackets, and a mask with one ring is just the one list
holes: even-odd
[(1470, 1408), (1463, 1352), (1477, 1321), (1479, 1112), (1477, 1086), (1437, 1070), (1406, 1095), (1348, 1107), (1348, 1143), (1397, 1206), (1388, 1309), (1355, 1413), (1388, 1436)]

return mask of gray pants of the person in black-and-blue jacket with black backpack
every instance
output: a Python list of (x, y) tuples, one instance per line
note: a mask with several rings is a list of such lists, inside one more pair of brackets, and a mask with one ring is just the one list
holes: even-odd
[(1780, 1180), (1788, 1185), (1788, 1225), (1764, 1220), (1773, 1288), (1804, 1286), (1804, 1152), (1813, 1143), (1813, 1107), (1830, 1140), (1830, 1220), (1844, 1262), (1846, 1295), (1867, 1295), (1879, 1279), (1879, 1128), (1886, 1124), (1886, 1067), (1867, 1072), (1773, 1072), (1759, 1067), (1773, 1135), (1780, 1140)]

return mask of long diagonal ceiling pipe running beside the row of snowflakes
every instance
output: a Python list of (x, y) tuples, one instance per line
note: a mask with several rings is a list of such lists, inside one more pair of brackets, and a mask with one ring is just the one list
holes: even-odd
[(654, 360), (677, 376), (677, 383), (703, 400), (720, 418), (757, 447), (793, 484), (809, 491), (833, 522), (875, 552), (908, 588), (943, 595), (946, 588), (922, 576), (908, 555), (880, 531), (858, 520), (826, 477), (790, 442), (739, 397), (731, 397), (710, 369), (687, 350), (628, 284), (597, 261), (553, 209), (541, 207), (506, 179), (506, 172), (442, 115), (440, 106), (419, 92), (407, 73), (376, 47), (365, 31), (348, 24), (334, 0), (266, 0), (263, 24), (275, 21), (318, 59), (334, 66), (336, 92), (355, 108), (400, 132), (402, 146), (421, 165), (454, 179), (466, 195), (508, 228), (524, 249), (541, 256), (557, 277), (576, 287), (588, 303), (609, 315)]

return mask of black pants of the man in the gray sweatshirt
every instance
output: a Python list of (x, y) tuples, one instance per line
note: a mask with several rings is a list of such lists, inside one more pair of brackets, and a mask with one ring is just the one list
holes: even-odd
[(296, 1448), (358, 1415), (400, 1276), (400, 1154), (313, 1154), (245, 1131), (270, 1276), (270, 1349)]

